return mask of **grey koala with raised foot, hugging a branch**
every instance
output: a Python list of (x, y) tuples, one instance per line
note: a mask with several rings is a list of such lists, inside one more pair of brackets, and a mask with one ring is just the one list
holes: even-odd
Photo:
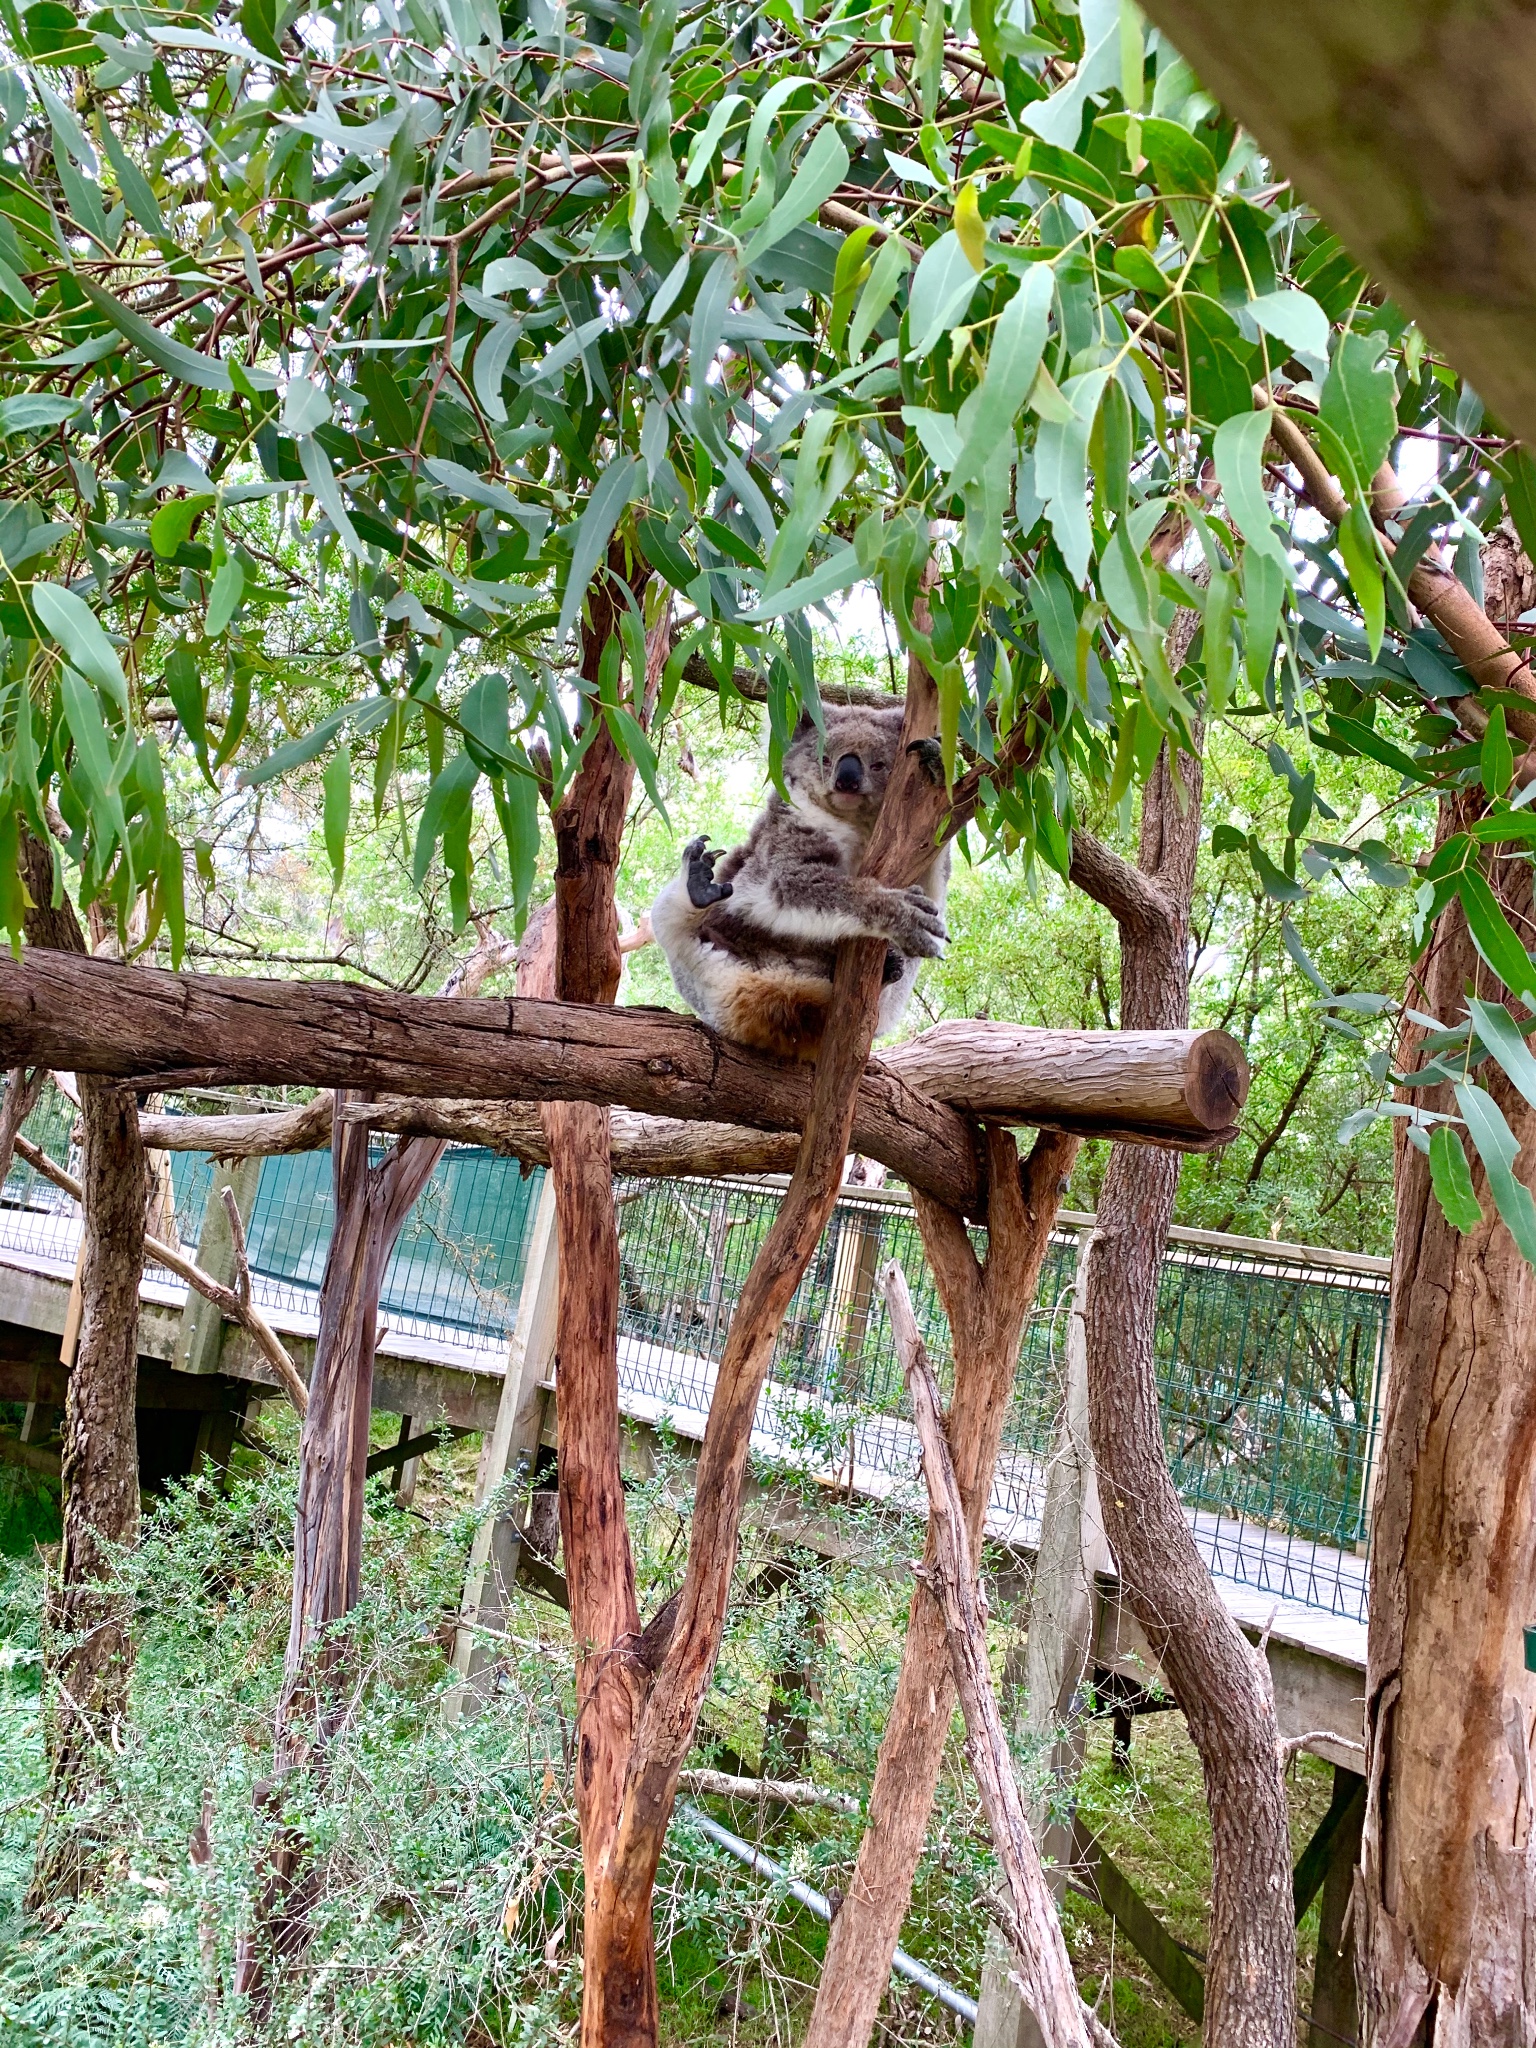
[[(825, 719), (825, 745), (801, 717), (784, 750), (788, 801), (774, 793), (748, 844), (729, 854), (690, 840), (651, 905), (651, 930), (688, 1008), (725, 1038), (788, 1059), (817, 1055), (840, 938), (889, 946), (881, 1032), (897, 1028), (918, 963), (946, 940), (948, 848), (915, 889), (856, 874), (895, 770), (901, 711), (829, 707)], [(924, 766), (938, 772), (938, 743), (922, 748)]]

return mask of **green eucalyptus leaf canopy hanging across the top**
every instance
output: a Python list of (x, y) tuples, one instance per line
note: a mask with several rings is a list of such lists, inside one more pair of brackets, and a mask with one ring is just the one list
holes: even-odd
[[(776, 764), (819, 717), (809, 618), (874, 582), (991, 844), (1065, 874), (1087, 795), (1264, 717), (1284, 842), (1217, 850), (1282, 903), (1395, 887), (1386, 842), (1329, 838), (1309, 750), (1409, 803), (1477, 782), (1421, 907), (1458, 897), (1526, 993), (1479, 864), (1536, 829), (1505, 719), (1468, 739), (1403, 586), (1444, 530), (1475, 571), (1505, 496), (1536, 530), (1536, 471), (1124, 0), (0, 0), (0, 33), (12, 936), (16, 834), (53, 823), (82, 899), (180, 954), (168, 750), (279, 795), (324, 760), (338, 870), (371, 758), (461, 924), (489, 797), (522, 907), (596, 731), (655, 791), (702, 659), (766, 696)], [(1450, 455), (1382, 537), (1405, 430)], [(338, 586), (348, 649), (279, 631)]]

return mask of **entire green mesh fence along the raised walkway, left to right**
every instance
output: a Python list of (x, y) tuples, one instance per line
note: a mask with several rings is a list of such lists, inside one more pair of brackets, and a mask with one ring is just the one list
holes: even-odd
[[(166, 1108), (197, 1112), (215, 1102), (172, 1098)], [(68, 1163), (72, 1126), (74, 1108), (49, 1090), (27, 1135)], [(446, 1147), (385, 1278), (389, 1329), (455, 1348), (504, 1348), (541, 1180), (496, 1153)], [(205, 1155), (170, 1155), (166, 1206), (186, 1247), (201, 1237), (211, 1186)], [(616, 1200), (625, 1407), (698, 1434), (778, 1186), (647, 1180), (621, 1184)], [(1079, 1229), (1090, 1221), (1063, 1219), (1024, 1327), (991, 1499), (993, 1528), (1022, 1540), (1044, 1505)], [(172, 1214), (162, 1235), (170, 1227)], [(330, 1229), (330, 1153), (262, 1161), (246, 1231), (270, 1307), (317, 1313)], [(53, 1268), (74, 1262), (74, 1204), (20, 1159), (0, 1198), (0, 1243)], [(985, 1233), (977, 1247), (985, 1249)], [(893, 1257), (907, 1272), (948, 1389), (948, 1325), (907, 1198), (848, 1190), (784, 1317), (754, 1448), (823, 1483), (846, 1483), (850, 1495), (915, 1499), (915, 1440), (879, 1290)], [(1161, 1274), (1157, 1382), (1169, 1468), (1214, 1571), (1364, 1618), (1386, 1309), (1380, 1262), (1174, 1233)]]

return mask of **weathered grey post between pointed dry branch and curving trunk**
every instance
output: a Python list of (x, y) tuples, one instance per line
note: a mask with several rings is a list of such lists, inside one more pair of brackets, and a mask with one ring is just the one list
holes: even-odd
[[(1067, 1319), (1061, 1419), (1040, 1516), (1040, 1546), (1030, 1587), (1018, 1722), (1030, 1747), (1049, 1743), (1044, 1784), (1030, 1798), (1030, 1827), (1057, 1898), (1073, 1862), (1071, 1819), (1051, 1819), (1057, 1794), (1083, 1763), (1087, 1716), (1081, 1686), (1094, 1651), (1096, 1573), (1112, 1569), (1098, 1511), (1094, 1448), (1087, 1438), (1087, 1343), (1083, 1307), (1092, 1231), (1077, 1243), (1077, 1278)], [(987, 1942), (977, 2013), (977, 2048), (1036, 2048), (1040, 2030), (1014, 1978), (999, 1937)]]

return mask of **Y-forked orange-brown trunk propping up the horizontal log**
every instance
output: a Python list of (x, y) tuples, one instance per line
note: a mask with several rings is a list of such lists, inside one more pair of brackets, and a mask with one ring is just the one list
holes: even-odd
[[(995, 1124), (987, 1128), (991, 1204), (985, 1266), (977, 1262), (961, 1217), (926, 1196), (915, 1198), (924, 1249), (954, 1346), (954, 1399), (944, 1434), (973, 1546), (981, 1540), (987, 1516), (1024, 1317), (1034, 1305), (1061, 1188), (1075, 1153), (1077, 1139), (1044, 1130), (1020, 1167), (1012, 1135)], [(930, 1528), (930, 1563), (934, 1546)], [(952, 1714), (954, 1677), (944, 1618), (932, 1593), (920, 1585), (907, 1614), (907, 1640), (874, 1767), (868, 1823), (848, 1896), (827, 1935), (805, 2048), (864, 2048), (874, 2030), (911, 1901)]]

